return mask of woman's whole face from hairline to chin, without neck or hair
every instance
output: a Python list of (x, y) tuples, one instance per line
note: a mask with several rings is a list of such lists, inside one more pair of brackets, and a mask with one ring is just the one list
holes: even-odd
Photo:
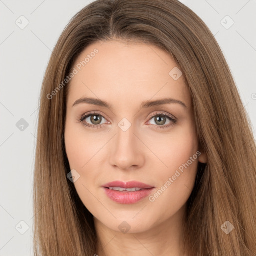
[(114, 231), (171, 219), (205, 162), (176, 63), (158, 47), (113, 40), (88, 46), (73, 68), (64, 138), (80, 199)]

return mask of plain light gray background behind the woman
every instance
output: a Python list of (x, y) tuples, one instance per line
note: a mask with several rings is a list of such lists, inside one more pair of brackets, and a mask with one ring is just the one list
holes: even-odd
[[(59, 35), (71, 17), (89, 2), (0, 0), (0, 256), (32, 255), (32, 179), (39, 91)], [(200, 16), (218, 41), (255, 135), (256, 0), (181, 2)], [(21, 15), (29, 21), (24, 29), (15, 23), (25, 24), (24, 19), (20, 21)], [(221, 24), (226, 15), (234, 21), (229, 29)], [(229, 25), (230, 20), (225, 20), (222, 22)], [(16, 126), (21, 118), (28, 123), (23, 131)]]

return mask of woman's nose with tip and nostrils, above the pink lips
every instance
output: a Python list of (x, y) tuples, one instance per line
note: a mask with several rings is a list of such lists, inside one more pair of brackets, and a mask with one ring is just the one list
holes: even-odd
[(117, 134), (110, 145), (109, 162), (112, 166), (122, 170), (138, 169), (145, 162), (145, 145), (141, 138), (135, 134), (133, 125), (128, 130), (123, 131), (117, 127)]

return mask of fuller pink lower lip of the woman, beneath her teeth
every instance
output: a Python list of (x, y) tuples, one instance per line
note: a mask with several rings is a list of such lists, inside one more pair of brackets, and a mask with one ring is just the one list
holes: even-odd
[(106, 187), (103, 187), (103, 188), (105, 190), (106, 195), (110, 199), (112, 199), (115, 202), (122, 203), (122, 204), (136, 203), (139, 200), (148, 196), (151, 193), (151, 191), (154, 189), (154, 187), (152, 187), (149, 189), (128, 192), (128, 191), (116, 191), (116, 190), (109, 189)]

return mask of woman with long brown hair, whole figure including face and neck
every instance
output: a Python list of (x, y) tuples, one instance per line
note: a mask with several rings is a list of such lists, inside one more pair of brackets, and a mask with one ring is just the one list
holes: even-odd
[(35, 255), (256, 255), (249, 120), (204, 22), (176, 0), (98, 0), (40, 96)]

